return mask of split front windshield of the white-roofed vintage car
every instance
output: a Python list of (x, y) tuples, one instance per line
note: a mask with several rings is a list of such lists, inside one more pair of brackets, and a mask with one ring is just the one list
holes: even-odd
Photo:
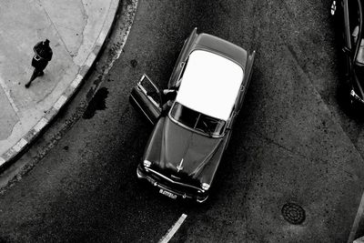
[(220, 136), (224, 131), (226, 122), (212, 116), (201, 114), (187, 106), (175, 102), (170, 115), (178, 123), (200, 131), (208, 136)]

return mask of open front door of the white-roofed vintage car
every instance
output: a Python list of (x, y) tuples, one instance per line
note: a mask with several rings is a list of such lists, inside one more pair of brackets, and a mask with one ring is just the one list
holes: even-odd
[(138, 111), (147, 116), (149, 122), (153, 125), (157, 122), (162, 112), (161, 95), (157, 86), (146, 74), (133, 87), (129, 101)]

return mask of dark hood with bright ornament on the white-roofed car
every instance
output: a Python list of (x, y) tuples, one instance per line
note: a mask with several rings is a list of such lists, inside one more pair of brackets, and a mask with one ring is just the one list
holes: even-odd
[(165, 119), (159, 167), (179, 177), (196, 178), (221, 144), (222, 138), (207, 137)]

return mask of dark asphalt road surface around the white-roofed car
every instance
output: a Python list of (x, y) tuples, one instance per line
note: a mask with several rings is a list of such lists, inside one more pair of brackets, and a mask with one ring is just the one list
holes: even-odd
[[(82, 102), (86, 84), (23, 158), (42, 159), (0, 196), (1, 239), (156, 242), (186, 214), (173, 242), (345, 242), (363, 191), (364, 140), (362, 121), (338, 103), (329, 2), (139, 1), (123, 53), (107, 76), (90, 78), (105, 80), (94, 98)], [(128, 104), (143, 73), (167, 85), (195, 26), (257, 51), (205, 205), (138, 184), (152, 127)], [(283, 218), (286, 203), (305, 209), (302, 224)]]

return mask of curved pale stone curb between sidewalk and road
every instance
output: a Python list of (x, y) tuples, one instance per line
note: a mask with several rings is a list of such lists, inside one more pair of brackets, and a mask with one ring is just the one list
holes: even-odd
[(110, 30), (115, 23), (116, 13), (118, 8), (121, 6), (121, 2), (121, 0), (113, 0), (110, 4), (106, 20), (101, 29), (100, 35), (98, 35), (96, 39), (95, 46), (91, 53), (87, 56), (84, 64), (80, 66), (76, 78), (69, 86), (67, 86), (66, 90), (56, 100), (56, 103), (49, 110), (45, 111), (45, 116), (42, 116), (42, 118), (25, 134), (25, 136), (20, 138), (13, 147), (7, 149), (5, 153), (0, 156), (0, 171), (3, 171), (11, 161), (21, 154), (21, 152), (25, 151), (25, 147), (35, 141), (35, 138), (45, 130), (45, 127), (53, 121), (59, 110), (65, 106), (70, 98), (76, 93), (77, 88), (81, 85), (84, 77), (87, 75), (91, 66), (93, 66), (101, 48), (104, 46), (106, 37), (110, 34)]

